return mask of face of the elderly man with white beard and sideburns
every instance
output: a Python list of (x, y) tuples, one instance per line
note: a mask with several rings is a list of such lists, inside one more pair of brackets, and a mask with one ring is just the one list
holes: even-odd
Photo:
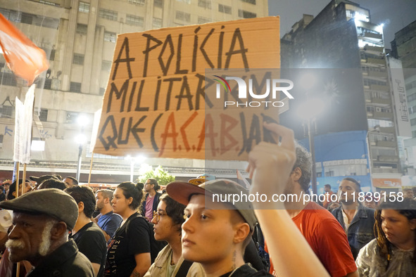
[(6, 243), (11, 262), (27, 260), (35, 265), (49, 254), (53, 227), (53, 224), (47, 224), (49, 219), (45, 215), (13, 212), (13, 229)]

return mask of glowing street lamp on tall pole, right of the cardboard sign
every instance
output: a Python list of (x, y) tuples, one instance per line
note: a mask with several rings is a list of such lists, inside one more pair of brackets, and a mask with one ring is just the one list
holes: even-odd
[(312, 192), (314, 194), (317, 194), (314, 134), (316, 131), (316, 117), (322, 112), (323, 108), (324, 102), (320, 98), (309, 99), (302, 103), (298, 108), (299, 117), (306, 122), (306, 126), (308, 127), (309, 150), (312, 160), (312, 178), (310, 181), (312, 183)]

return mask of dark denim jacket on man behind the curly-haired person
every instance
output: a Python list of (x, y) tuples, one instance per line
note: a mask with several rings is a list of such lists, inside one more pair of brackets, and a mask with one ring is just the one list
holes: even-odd
[[(332, 211), (332, 214), (334, 214), (336, 220), (339, 221), (342, 228), (345, 230), (345, 224), (343, 224), (343, 215), (341, 209), (342, 206), (337, 207)], [(359, 204), (358, 212), (355, 214), (355, 217), (351, 221), (351, 224), (348, 227), (348, 231), (346, 232), (348, 243), (350, 244), (354, 259), (357, 258), (360, 249), (367, 243), (370, 243), (373, 238), (375, 238), (374, 224), (374, 210)]]

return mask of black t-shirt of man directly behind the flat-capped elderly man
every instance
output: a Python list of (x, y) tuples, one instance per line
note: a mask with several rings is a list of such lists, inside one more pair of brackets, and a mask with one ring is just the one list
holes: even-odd
[(75, 235), (71, 236), (77, 243), (78, 250), (87, 258), (89, 262), (101, 264), (97, 277), (104, 276), (106, 266), (107, 242), (103, 232), (94, 222), (89, 222), (80, 228)]

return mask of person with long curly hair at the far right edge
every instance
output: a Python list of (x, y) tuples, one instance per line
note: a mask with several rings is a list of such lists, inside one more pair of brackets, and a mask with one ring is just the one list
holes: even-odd
[(377, 238), (355, 261), (360, 276), (416, 276), (416, 200), (387, 199), (374, 216)]

